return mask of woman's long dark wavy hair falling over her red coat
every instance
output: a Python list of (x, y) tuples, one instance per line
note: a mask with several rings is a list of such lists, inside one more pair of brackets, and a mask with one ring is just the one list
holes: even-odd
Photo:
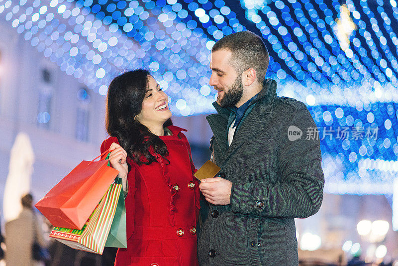
[[(106, 131), (117, 137), (128, 156), (138, 164), (157, 161), (151, 149), (163, 157), (168, 155), (165, 142), (134, 119), (141, 112), (150, 75), (144, 69), (125, 72), (110, 82), (106, 96)], [(163, 126), (172, 124), (168, 119)]]

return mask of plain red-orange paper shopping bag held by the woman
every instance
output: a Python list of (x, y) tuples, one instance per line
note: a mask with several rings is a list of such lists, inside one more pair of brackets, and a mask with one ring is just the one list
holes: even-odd
[(36, 203), (53, 226), (81, 230), (119, 174), (107, 166), (108, 160), (94, 160), (79, 163)]

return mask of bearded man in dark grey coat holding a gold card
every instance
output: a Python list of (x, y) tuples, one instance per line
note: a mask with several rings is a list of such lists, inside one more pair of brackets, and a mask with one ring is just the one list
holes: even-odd
[(207, 121), (221, 170), (199, 186), (209, 203), (201, 266), (298, 265), (294, 218), (322, 203), (319, 140), (302, 135), (316, 125), (303, 103), (278, 97), (276, 82), (264, 80), (268, 64), (264, 42), (250, 31), (225, 36), (211, 50), (218, 114)]

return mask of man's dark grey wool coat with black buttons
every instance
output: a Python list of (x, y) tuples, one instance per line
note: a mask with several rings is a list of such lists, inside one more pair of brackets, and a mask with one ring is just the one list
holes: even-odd
[[(201, 266), (298, 265), (294, 218), (319, 210), (324, 176), (319, 139), (306, 139), (307, 129), (316, 129), (310, 113), (276, 88), (275, 80), (265, 81), (229, 147), (231, 111), (214, 103), (218, 114), (207, 117), (213, 161), (232, 191), (231, 204), (209, 206), (198, 240)], [(290, 126), (300, 138), (289, 140)]]

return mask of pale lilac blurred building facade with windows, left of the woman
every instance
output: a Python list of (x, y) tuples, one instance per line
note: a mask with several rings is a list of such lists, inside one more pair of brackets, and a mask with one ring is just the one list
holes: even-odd
[(0, 23), (0, 168), (4, 169), (0, 187), (4, 187), (9, 152), (19, 132), (29, 135), (35, 153), (35, 197), (43, 196), (82, 158), (97, 154), (106, 136), (104, 102), (105, 97), (91, 94), (23, 36)]

